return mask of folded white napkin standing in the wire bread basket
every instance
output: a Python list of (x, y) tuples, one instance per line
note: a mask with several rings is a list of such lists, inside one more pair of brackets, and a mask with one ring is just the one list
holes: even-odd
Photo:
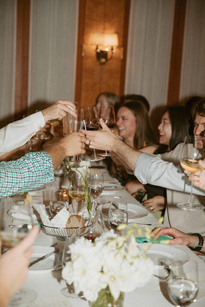
[(48, 215), (46, 214), (46, 212), (43, 210), (41, 206), (40, 206), (39, 213), (40, 213), (41, 221), (43, 225), (51, 226), (51, 227), (63, 227), (64, 228), (70, 217), (70, 213), (67, 211), (66, 208), (62, 208), (61, 211), (59, 211), (52, 220), (49, 220)]

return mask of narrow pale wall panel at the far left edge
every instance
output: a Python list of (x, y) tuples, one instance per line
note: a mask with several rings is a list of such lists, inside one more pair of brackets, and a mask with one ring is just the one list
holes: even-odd
[(14, 112), (16, 0), (0, 1), (0, 128)]

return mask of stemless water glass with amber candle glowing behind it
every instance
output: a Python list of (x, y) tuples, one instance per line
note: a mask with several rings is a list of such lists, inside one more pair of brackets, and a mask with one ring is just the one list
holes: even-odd
[(64, 189), (53, 190), (49, 204), (50, 214), (54, 217), (64, 207), (66, 209), (69, 207), (68, 191)]

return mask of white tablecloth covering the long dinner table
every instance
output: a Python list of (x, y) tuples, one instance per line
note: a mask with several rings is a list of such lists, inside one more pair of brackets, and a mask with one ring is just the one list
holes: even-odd
[[(104, 174), (105, 182), (112, 181), (113, 178), (109, 177), (107, 174)], [(54, 188), (60, 187), (60, 181), (57, 178), (54, 182), (46, 184), (46, 189), (33, 193), (35, 199), (42, 200), (45, 204), (49, 203), (49, 197), (51, 190)], [(103, 192), (105, 193), (105, 192)], [(101, 194), (104, 195), (104, 194)], [(107, 192), (105, 193), (107, 196)], [(121, 196), (121, 200), (126, 200), (128, 203), (136, 204), (142, 206), (137, 202), (127, 191), (124, 189), (118, 190), (111, 193), (113, 196)], [(37, 196), (35, 196), (37, 195)], [(98, 198), (100, 200), (101, 198)], [(117, 200), (117, 199), (116, 199)], [(11, 199), (8, 199), (11, 201)], [(12, 218), (6, 216), (10, 222)], [(17, 220), (14, 220), (18, 222)], [(157, 226), (158, 221), (156, 218), (148, 212), (146, 217), (137, 219), (136, 222), (139, 223), (151, 223), (152, 226), (149, 226), (151, 229)], [(144, 226), (140, 227), (144, 229)], [(57, 242), (57, 247), (63, 249), (64, 242), (56, 239), (55, 237), (45, 235), (42, 231), (37, 236), (37, 240), (34, 245), (50, 246), (51, 244)], [(195, 307), (205, 306), (205, 263), (201, 258), (196, 256), (188, 247), (175, 245), (175, 248), (185, 251), (191, 259), (195, 259), (198, 262), (199, 267), (199, 293), (198, 300), (193, 304)], [(64, 297), (61, 294), (61, 289), (66, 286), (65, 281), (61, 278), (61, 270), (53, 271), (30, 271), (28, 273), (28, 278), (24, 287), (31, 288), (36, 292), (36, 300), (33, 303), (30, 303), (29, 307), (88, 307), (88, 302), (83, 299), (71, 299)], [(166, 290), (166, 284), (160, 282), (156, 277), (152, 277), (149, 283), (143, 288), (138, 288), (131, 293), (125, 293), (124, 298), (124, 307), (131, 306), (143, 306), (143, 307), (173, 307), (173, 304), (170, 302)]]

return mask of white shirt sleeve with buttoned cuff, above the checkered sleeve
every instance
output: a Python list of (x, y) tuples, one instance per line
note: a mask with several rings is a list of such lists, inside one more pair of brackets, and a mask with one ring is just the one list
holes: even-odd
[(44, 117), (39, 111), (0, 129), (0, 156), (24, 145), (43, 126)]

